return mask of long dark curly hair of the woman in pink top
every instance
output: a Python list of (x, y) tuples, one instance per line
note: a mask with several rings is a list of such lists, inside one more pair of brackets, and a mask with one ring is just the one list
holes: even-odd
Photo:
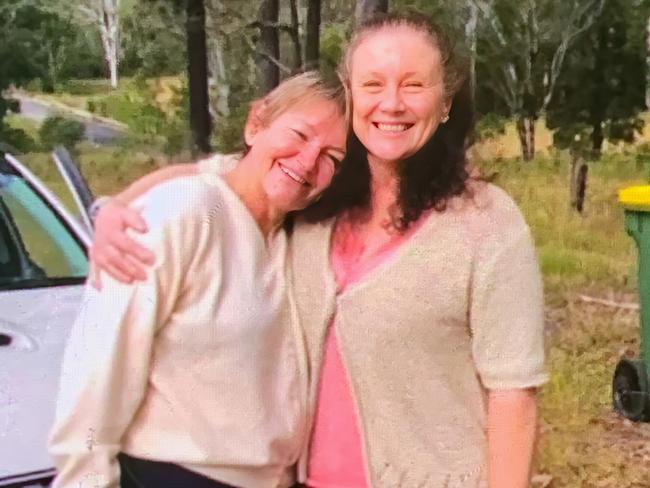
[[(349, 87), (349, 63), (357, 46), (367, 35), (387, 27), (406, 26), (425, 33), (440, 50), (445, 92), (452, 99), (449, 120), (440, 124), (433, 136), (415, 154), (399, 162), (398, 212), (393, 226), (406, 230), (428, 209), (442, 211), (447, 201), (468, 192), (470, 178), (465, 155), (466, 140), (474, 123), (471, 88), (464, 63), (460, 62), (445, 32), (419, 14), (381, 14), (361, 24), (342, 60), (341, 75)], [(332, 184), (317, 202), (299, 212), (307, 222), (320, 222), (370, 204), (368, 152), (350, 131), (347, 154)]]

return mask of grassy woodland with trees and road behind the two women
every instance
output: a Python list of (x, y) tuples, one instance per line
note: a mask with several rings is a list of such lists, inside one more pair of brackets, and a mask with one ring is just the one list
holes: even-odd
[(69, 201), (47, 155), (64, 143), (95, 194), (115, 193), (236, 150), (253, 99), (305, 69), (335, 76), (356, 22), (407, 9), (468, 60), (472, 164), (535, 236), (551, 379), (533, 485), (650, 486), (650, 425), (611, 407), (614, 367), (639, 350), (617, 190), (650, 178), (650, 0), (0, 0), (0, 150)]

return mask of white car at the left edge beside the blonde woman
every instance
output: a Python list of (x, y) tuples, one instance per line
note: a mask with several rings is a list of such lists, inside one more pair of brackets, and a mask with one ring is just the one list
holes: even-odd
[(67, 153), (55, 160), (83, 222), (0, 154), (0, 487), (47, 486), (54, 475), (46, 442), (88, 269), (92, 198)]

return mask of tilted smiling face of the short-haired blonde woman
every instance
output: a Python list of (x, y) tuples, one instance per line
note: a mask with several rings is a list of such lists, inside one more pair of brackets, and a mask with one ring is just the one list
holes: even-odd
[(339, 107), (321, 98), (284, 111), (267, 126), (249, 121), (247, 157), (258, 161), (269, 205), (290, 212), (311, 203), (330, 184), (345, 156), (345, 138)]

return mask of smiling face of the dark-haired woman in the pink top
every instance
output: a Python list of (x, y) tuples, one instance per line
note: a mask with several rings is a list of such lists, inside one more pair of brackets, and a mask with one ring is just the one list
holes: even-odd
[(440, 51), (408, 26), (366, 35), (352, 54), (349, 73), (352, 127), (371, 163), (412, 155), (449, 112)]

